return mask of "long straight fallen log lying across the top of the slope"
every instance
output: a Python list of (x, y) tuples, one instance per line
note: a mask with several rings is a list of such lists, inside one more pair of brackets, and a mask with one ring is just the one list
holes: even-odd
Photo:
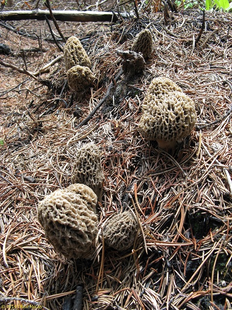
[[(8, 11), (0, 13), (1, 21), (21, 21), (21, 20), (45, 20), (45, 16), (51, 19), (49, 10), (31, 11)], [(57, 21), (65, 22), (116, 22), (118, 13), (94, 12), (94, 11), (75, 11), (75, 10), (56, 10), (53, 16)], [(135, 16), (127, 13), (120, 13), (123, 18), (134, 18)]]

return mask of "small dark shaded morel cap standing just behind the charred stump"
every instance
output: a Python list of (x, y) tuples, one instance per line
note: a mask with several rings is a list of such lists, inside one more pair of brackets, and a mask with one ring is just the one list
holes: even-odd
[(136, 53), (142, 53), (143, 58), (149, 58), (153, 51), (152, 33), (148, 29), (144, 29), (138, 33), (135, 42), (132, 44), (131, 50)]

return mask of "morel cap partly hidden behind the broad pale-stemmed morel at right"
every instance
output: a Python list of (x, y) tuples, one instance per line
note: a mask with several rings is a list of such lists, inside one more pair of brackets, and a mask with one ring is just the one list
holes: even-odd
[(164, 76), (153, 79), (143, 100), (143, 111), (147, 109), (148, 103), (155, 100), (156, 97), (161, 98), (173, 91), (182, 92), (182, 89), (171, 79)]

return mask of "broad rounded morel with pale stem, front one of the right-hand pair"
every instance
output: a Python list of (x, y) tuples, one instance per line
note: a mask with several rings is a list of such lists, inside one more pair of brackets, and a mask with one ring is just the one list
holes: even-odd
[(144, 138), (156, 140), (160, 148), (173, 148), (177, 140), (191, 133), (195, 121), (193, 100), (174, 91), (147, 102), (139, 121), (139, 131)]

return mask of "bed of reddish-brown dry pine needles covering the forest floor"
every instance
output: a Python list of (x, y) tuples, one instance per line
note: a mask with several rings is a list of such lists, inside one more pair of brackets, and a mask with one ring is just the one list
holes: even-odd
[[(25, 31), (26, 23), (20, 23)], [(33, 24), (34, 32), (38, 24), (45, 27)], [(83, 287), (84, 310), (231, 309), (231, 15), (206, 12), (198, 43), (199, 11), (98, 24), (88, 36), (88, 25), (59, 24), (65, 36), (85, 37), (97, 77), (93, 89), (68, 89), (63, 60), (41, 75), (52, 83), (49, 89), (0, 66), (1, 307), (68, 309), (64, 303)], [(122, 75), (114, 96), (77, 129), (120, 70), (116, 49), (129, 49), (145, 27), (152, 31), (154, 52), (143, 74), (123, 95)], [(42, 48), (36, 52), (30, 48), (40, 48), (39, 41), (3, 27), (0, 35), (14, 50), (1, 59), (27, 64), (31, 72), (62, 55), (45, 40), (49, 30), (40, 30)], [(196, 105), (195, 129), (173, 154), (138, 132), (146, 89), (157, 76), (171, 78)], [(98, 246), (92, 261), (66, 260), (45, 239), (37, 206), (44, 195), (70, 185), (77, 149), (87, 142), (99, 146), (105, 176)], [(102, 228), (129, 209), (139, 230), (133, 249), (117, 252), (104, 244)]]

